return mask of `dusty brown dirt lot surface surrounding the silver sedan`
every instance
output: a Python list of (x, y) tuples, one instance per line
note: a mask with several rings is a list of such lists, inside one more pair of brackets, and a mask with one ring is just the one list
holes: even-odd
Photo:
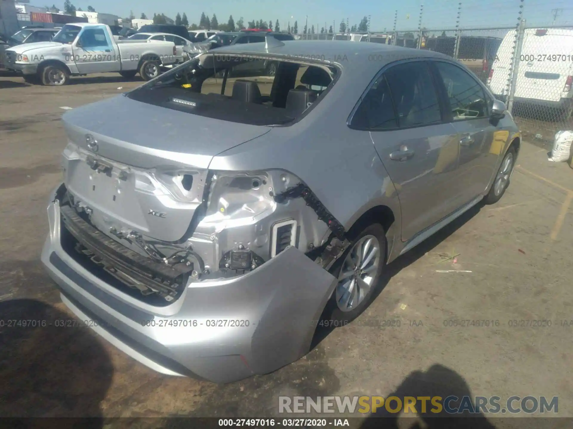
[[(73, 318), (39, 261), (48, 194), (61, 179), (62, 107), (140, 84), (113, 74), (63, 88), (0, 77), (0, 319)], [(88, 328), (4, 325), (0, 415), (278, 416), (279, 395), (387, 397), (414, 386), (503, 400), (559, 396), (558, 415), (573, 416), (573, 170), (531, 143), (499, 203), (470, 210), (389, 265), (370, 308), (324, 332), (299, 362), (217, 386), (156, 374)], [(457, 263), (437, 253), (458, 255)], [(452, 269), (470, 272), (436, 271)], [(400, 322), (384, 328), (381, 320)], [(521, 326), (529, 320), (545, 323)], [(500, 416), (487, 419), (501, 427)]]

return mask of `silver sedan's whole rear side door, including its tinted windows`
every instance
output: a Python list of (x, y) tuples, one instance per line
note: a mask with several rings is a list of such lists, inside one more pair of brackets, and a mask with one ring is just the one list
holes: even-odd
[(427, 62), (406, 61), (383, 70), (352, 118), (370, 130), (397, 189), (403, 241), (448, 215), (458, 141), (443, 110)]

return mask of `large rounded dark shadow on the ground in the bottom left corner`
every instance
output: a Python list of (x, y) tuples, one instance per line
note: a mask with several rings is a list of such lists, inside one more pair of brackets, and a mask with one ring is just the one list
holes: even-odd
[(100, 402), (112, 375), (107, 352), (77, 319), (37, 300), (0, 302), (3, 418), (88, 417), (81, 427), (101, 428)]

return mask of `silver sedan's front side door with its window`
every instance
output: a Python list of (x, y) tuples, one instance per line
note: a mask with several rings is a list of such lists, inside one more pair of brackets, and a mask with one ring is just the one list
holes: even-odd
[(489, 119), (490, 98), (475, 76), (457, 64), (432, 61), (436, 81), (443, 84), (452, 125), (459, 134), (460, 158), (449, 211), (472, 201), (489, 185), (500, 156)]

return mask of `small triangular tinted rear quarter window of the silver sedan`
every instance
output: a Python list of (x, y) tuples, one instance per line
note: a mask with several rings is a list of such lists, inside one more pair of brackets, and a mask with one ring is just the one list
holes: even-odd
[(384, 75), (380, 76), (363, 97), (352, 117), (352, 128), (382, 130), (396, 128), (398, 122), (392, 105), (390, 88)]

